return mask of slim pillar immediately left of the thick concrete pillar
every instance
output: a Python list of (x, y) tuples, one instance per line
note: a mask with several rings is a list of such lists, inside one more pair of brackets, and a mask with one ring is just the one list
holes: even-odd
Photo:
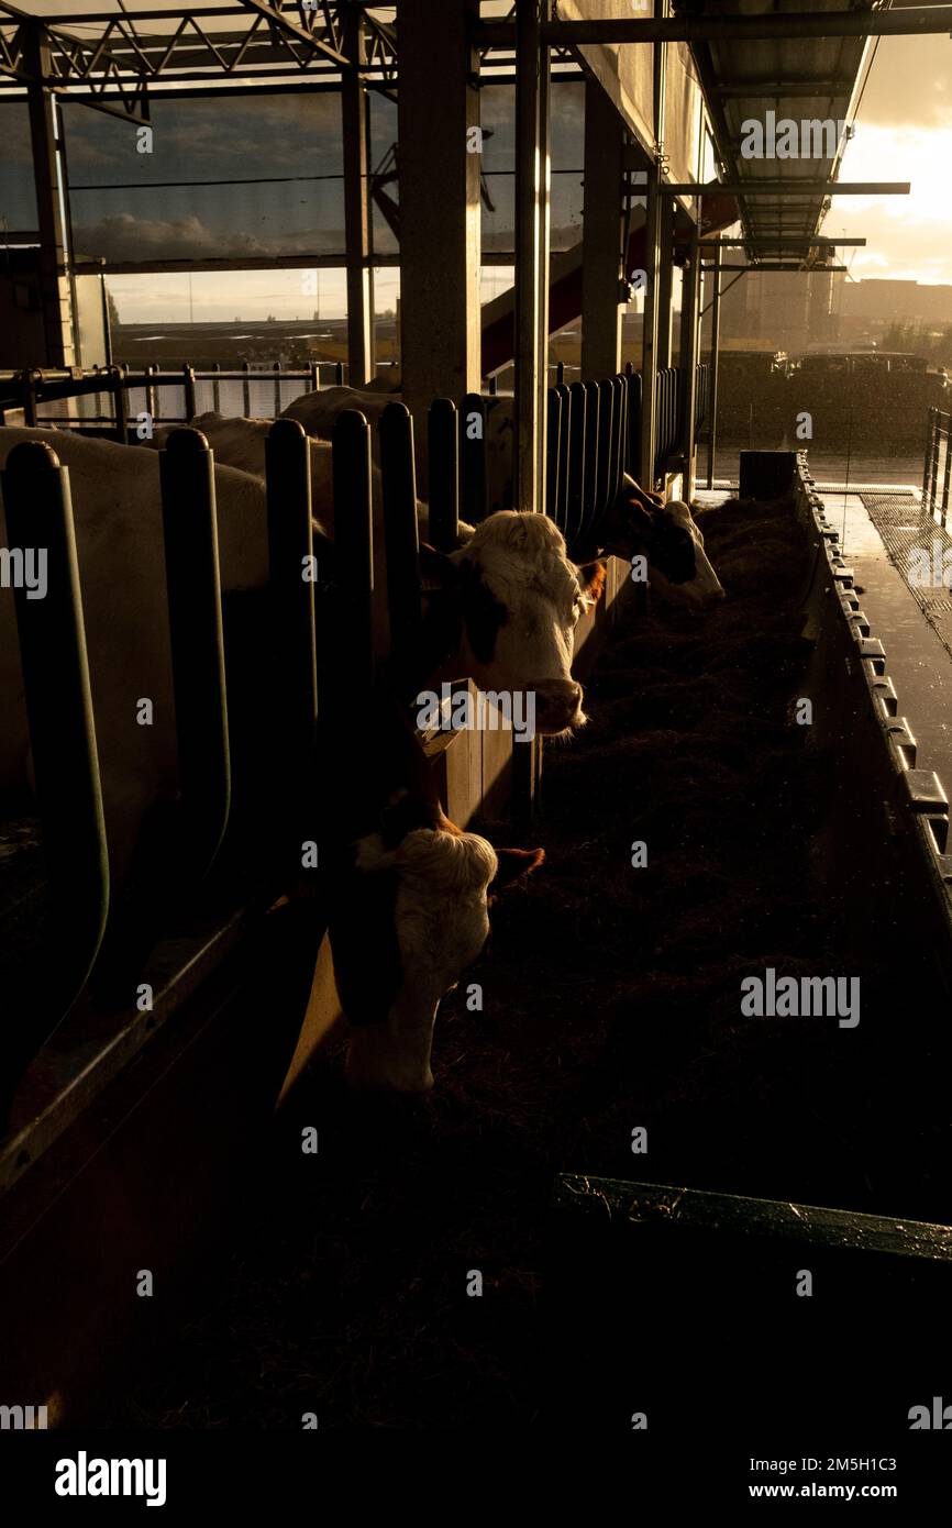
[[(355, 63), (365, 61), (359, 11), (344, 18), (344, 50)], [(344, 130), (344, 241), (347, 249), (347, 362), (348, 382), (362, 387), (376, 376), (373, 329), (373, 277), (370, 257), (368, 124), (367, 90), (361, 76), (345, 70), (341, 83)]]

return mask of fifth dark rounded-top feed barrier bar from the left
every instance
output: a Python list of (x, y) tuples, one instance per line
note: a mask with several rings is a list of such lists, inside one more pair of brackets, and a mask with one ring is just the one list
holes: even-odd
[(405, 656), (413, 651), (420, 628), (417, 484), (413, 419), (405, 403), (387, 405), (380, 414), (379, 432), (390, 656), (399, 671)]

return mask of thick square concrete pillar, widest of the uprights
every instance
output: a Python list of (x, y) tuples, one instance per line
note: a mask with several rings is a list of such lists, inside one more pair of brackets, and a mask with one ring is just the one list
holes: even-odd
[(400, 359), (403, 402), (480, 391), (477, 0), (402, 0)]

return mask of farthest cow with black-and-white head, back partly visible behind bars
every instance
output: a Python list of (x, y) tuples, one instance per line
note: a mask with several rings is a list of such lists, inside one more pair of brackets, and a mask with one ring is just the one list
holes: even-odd
[[(342, 410), (361, 410), (373, 426), (393, 402), (399, 402), (397, 393), (330, 387), (295, 399), (281, 417), (296, 419), (312, 439), (330, 440)], [(376, 429), (371, 435), (376, 451)], [(513, 399), (486, 399), (486, 497), (491, 515), (515, 507), (512, 442)], [(468, 527), (460, 527), (461, 536), (468, 533)], [(643, 556), (651, 585), (671, 602), (703, 608), (724, 597), (691, 507), (682, 500), (665, 504), (662, 495), (646, 492), (628, 474), (594, 535), (578, 550), (581, 564), (608, 556), (625, 562)]]

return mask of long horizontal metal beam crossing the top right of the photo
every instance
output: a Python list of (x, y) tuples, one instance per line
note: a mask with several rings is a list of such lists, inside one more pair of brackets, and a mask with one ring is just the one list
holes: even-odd
[[(778, 41), (787, 37), (915, 37), (952, 32), (952, 6), (909, 6), (902, 11), (773, 11), (764, 15), (678, 15), (611, 21), (544, 21), (542, 43), (584, 47), (613, 43)], [(483, 21), (481, 47), (506, 47), (513, 21)]]

